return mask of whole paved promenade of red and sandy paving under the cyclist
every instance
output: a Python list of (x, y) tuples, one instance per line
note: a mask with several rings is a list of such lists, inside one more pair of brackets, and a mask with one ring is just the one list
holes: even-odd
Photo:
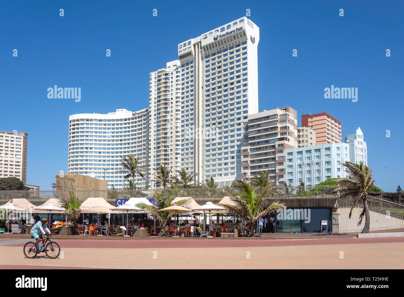
[(30, 239), (0, 240), (0, 269), (404, 269), (404, 238), (55, 240), (62, 259), (27, 259)]

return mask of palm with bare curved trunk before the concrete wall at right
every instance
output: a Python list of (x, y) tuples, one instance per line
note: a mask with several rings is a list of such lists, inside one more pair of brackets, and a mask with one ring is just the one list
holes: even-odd
[(362, 223), (363, 217), (365, 217), (365, 225), (361, 233), (369, 233), (370, 229), (370, 213), (368, 206), (368, 190), (374, 180), (372, 179), (372, 169), (364, 165), (354, 164), (351, 162), (345, 162), (342, 164), (346, 167), (349, 174), (349, 178), (336, 179), (338, 187), (334, 192), (340, 191), (341, 197), (354, 196), (356, 197), (349, 212), (349, 218), (351, 218), (353, 208), (360, 202), (363, 202), (363, 210), (359, 215), (358, 226)]

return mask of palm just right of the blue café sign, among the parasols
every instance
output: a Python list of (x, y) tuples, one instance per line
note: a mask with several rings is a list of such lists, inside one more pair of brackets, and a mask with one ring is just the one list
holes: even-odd
[[(159, 224), (161, 226), (161, 230), (158, 234), (158, 236), (165, 236), (167, 235), (166, 231), (166, 226), (167, 226), (167, 221), (170, 217), (173, 217), (175, 213), (170, 213), (168, 211), (158, 211), (159, 209), (164, 209), (173, 202), (175, 196), (170, 195), (167, 198), (163, 198), (156, 190), (154, 190), (154, 200), (156, 201), (157, 207), (151, 206), (149, 204), (145, 203), (139, 203), (136, 204), (137, 207), (140, 209), (143, 209), (146, 213), (151, 215), (152, 217), (156, 218), (156, 225)], [(176, 202), (174, 205), (182, 205), (185, 202), (187, 202), (190, 198), (188, 199), (183, 199), (178, 202)]]

